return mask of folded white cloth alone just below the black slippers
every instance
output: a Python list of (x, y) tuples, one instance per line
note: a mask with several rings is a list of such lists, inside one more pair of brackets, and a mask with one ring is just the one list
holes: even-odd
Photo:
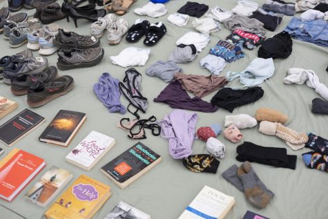
[(117, 56), (111, 56), (110, 60), (113, 64), (122, 66), (144, 66), (148, 60), (151, 49), (149, 48), (136, 48), (128, 47), (119, 53)]

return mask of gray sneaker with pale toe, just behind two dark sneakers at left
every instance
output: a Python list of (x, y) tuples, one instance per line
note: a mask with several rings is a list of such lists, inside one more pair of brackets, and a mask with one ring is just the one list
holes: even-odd
[(48, 66), (48, 59), (43, 57), (26, 58), (21, 55), (12, 55), (10, 63), (3, 68), (3, 82), (11, 84), (12, 77), (40, 73)]

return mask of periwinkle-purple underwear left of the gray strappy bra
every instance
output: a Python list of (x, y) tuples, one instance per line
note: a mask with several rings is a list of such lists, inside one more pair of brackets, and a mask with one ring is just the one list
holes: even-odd
[(126, 108), (120, 102), (119, 79), (110, 77), (109, 73), (103, 73), (99, 82), (93, 85), (93, 91), (110, 113), (126, 113)]

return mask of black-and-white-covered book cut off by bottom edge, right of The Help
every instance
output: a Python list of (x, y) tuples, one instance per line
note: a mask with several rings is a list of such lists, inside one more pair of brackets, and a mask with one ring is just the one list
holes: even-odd
[(136, 209), (126, 202), (120, 201), (112, 211), (104, 219), (121, 219), (121, 218), (134, 218), (134, 219), (151, 219), (151, 216)]

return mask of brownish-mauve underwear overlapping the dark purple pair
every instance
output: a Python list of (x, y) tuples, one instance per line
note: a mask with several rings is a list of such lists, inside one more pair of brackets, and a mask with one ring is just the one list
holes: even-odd
[(205, 77), (204, 75), (177, 73), (174, 77), (181, 83), (184, 90), (189, 91), (200, 98), (209, 95), (228, 83), (225, 77), (218, 77), (215, 75)]

